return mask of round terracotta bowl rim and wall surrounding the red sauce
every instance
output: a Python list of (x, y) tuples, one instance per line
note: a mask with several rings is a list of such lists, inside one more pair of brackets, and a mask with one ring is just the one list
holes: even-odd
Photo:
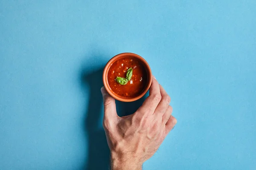
[[(147, 72), (147, 83), (145, 85), (145, 88), (138, 96), (135, 96), (135, 97), (119, 96), (111, 90), (111, 88), (108, 84), (108, 70), (109, 70), (109, 68), (111, 67), (111, 65), (114, 62), (116, 62), (116, 60), (121, 59), (121, 58), (125, 58), (125, 57), (135, 57), (135, 58), (139, 59), (140, 62), (144, 65), (145, 71)], [(140, 57), (139, 55), (134, 54), (134, 53), (121, 53), (121, 54), (117, 54), (116, 56), (114, 56), (113, 58), (111, 58), (108, 61), (108, 63), (106, 64), (106, 66), (104, 68), (102, 79), (103, 79), (103, 84), (104, 84), (106, 90), (108, 91), (108, 94), (110, 94), (113, 98), (115, 98), (116, 100), (122, 101), (122, 102), (133, 102), (135, 100), (138, 100), (138, 99), (142, 98), (147, 93), (148, 89), (151, 86), (151, 82), (152, 82), (152, 72), (151, 72), (151, 69), (148, 65), (148, 62), (146, 62), (146, 60), (143, 59), (142, 57)]]

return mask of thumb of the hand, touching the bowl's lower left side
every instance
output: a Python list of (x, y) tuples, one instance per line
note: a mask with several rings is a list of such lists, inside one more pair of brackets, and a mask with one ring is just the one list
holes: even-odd
[(102, 92), (103, 97), (104, 119), (109, 122), (111, 119), (117, 116), (116, 102), (115, 99), (108, 94), (105, 87), (102, 87), (100, 91)]

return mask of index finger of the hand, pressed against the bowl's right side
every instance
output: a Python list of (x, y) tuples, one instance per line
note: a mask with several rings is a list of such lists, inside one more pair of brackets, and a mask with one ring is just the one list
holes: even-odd
[(143, 105), (138, 109), (138, 111), (145, 114), (153, 114), (157, 108), (158, 103), (161, 100), (160, 87), (157, 79), (152, 76), (152, 84), (149, 89), (149, 96), (143, 102)]

